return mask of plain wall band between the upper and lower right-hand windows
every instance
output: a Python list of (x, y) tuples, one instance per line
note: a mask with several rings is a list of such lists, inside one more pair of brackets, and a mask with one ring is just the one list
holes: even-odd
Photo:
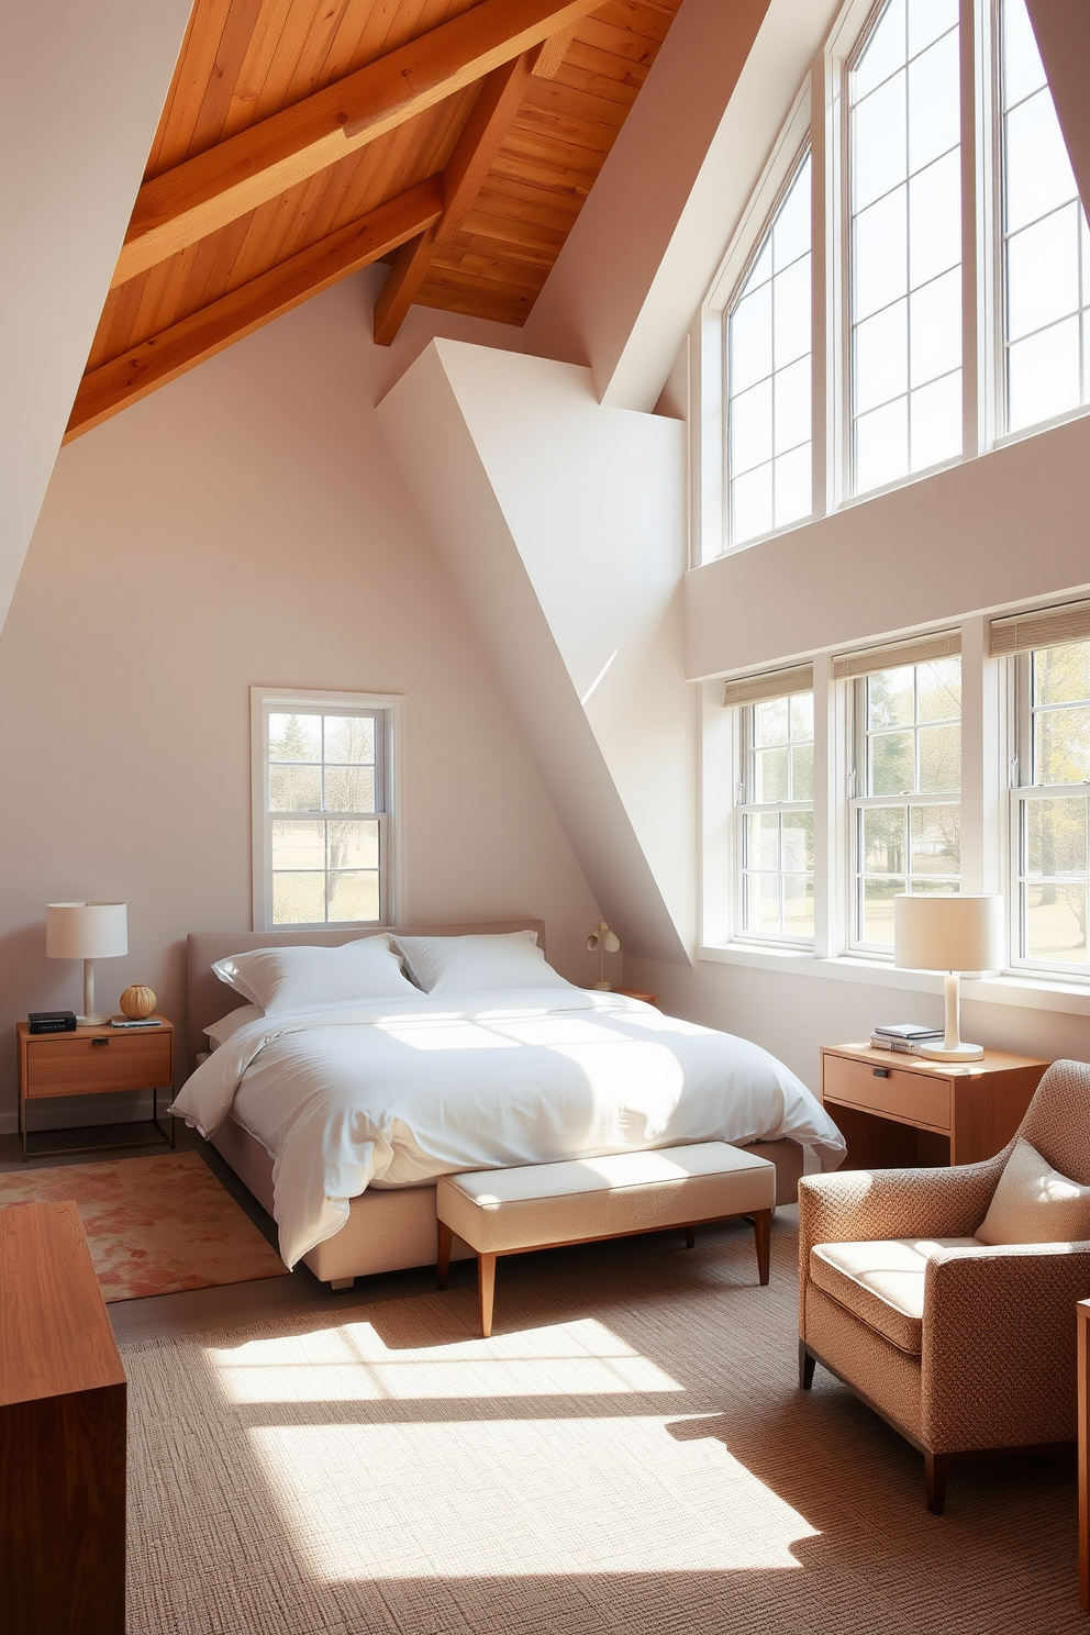
[(1085, 587), (1088, 517), (1090, 417), (693, 569), (686, 674)]

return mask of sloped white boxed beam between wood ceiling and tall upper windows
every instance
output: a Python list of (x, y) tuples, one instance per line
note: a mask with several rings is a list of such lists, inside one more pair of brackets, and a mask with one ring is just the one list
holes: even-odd
[(685, 0), (523, 330), (654, 409), (842, 0)]

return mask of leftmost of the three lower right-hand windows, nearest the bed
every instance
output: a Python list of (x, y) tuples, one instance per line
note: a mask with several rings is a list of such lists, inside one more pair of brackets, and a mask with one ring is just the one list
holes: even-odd
[(802, 947), (814, 945), (812, 685), (799, 665), (726, 693), (739, 719), (737, 929)]

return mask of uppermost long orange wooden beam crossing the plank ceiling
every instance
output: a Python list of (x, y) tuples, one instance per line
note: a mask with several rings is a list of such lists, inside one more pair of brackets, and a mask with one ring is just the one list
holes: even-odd
[(145, 181), (111, 288), (574, 28), (601, 0), (479, 5)]

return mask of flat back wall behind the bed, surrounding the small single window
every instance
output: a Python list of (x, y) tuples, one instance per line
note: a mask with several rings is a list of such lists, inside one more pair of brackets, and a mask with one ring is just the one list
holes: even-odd
[[(44, 955), (44, 906), (70, 898), (129, 904), (103, 1007), (149, 981), (185, 1022), (185, 934), (250, 925), (253, 683), (404, 693), (404, 917), (539, 916), (554, 963), (595, 974), (598, 903), (374, 419), (397, 363), (368, 340), (373, 284), (60, 453), (0, 638), (8, 1038), (78, 1006), (78, 966)], [(0, 1074), (13, 1128), (10, 1050)]]

